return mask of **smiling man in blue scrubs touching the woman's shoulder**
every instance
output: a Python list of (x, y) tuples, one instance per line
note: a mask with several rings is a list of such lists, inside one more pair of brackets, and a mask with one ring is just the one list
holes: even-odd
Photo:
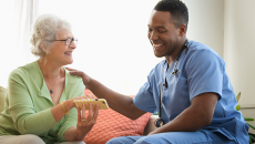
[(118, 137), (108, 144), (248, 144), (248, 126), (235, 110), (237, 102), (223, 59), (207, 45), (188, 41), (187, 23), (183, 2), (163, 0), (155, 6), (147, 37), (155, 56), (165, 60), (150, 72), (134, 99), (83, 72), (71, 72), (130, 119), (161, 111), (163, 126), (146, 136)]

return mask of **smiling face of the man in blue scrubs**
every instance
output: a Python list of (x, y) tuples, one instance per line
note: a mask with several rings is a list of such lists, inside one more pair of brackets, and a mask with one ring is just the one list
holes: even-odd
[(170, 12), (153, 10), (149, 20), (147, 38), (155, 56), (171, 56), (180, 45), (180, 30), (171, 19)]

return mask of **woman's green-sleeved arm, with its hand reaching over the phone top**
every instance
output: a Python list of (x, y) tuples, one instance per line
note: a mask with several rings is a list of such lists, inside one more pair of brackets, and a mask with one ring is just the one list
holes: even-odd
[[(9, 111), (13, 126), (20, 134), (40, 135), (63, 119), (64, 112), (61, 104), (52, 106), (52, 103), (45, 99), (45, 93), (39, 93), (40, 90), (38, 92), (33, 79), (27, 75), (28, 73), (22, 69), (17, 69), (10, 74), (8, 84)], [(86, 99), (86, 96), (64, 101), (67, 111), (74, 107), (72, 101), (79, 99)]]

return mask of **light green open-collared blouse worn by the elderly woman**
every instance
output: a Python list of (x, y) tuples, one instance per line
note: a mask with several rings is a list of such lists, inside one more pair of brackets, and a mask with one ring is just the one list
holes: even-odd
[[(82, 79), (65, 70), (65, 85), (59, 103), (84, 94)], [(55, 122), (51, 100), (38, 61), (11, 72), (4, 111), (0, 116), (0, 135), (34, 134), (45, 143), (63, 142), (64, 132), (76, 126), (76, 109), (71, 109), (60, 122)]]

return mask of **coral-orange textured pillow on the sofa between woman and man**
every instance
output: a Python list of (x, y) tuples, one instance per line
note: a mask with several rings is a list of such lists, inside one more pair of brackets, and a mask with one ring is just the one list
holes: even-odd
[[(93, 94), (85, 90), (85, 94)], [(143, 131), (152, 113), (145, 113), (131, 120), (112, 109), (100, 110), (95, 125), (83, 140), (85, 144), (105, 144), (109, 140), (120, 136), (143, 135)], [(88, 116), (88, 112), (86, 112)]]

